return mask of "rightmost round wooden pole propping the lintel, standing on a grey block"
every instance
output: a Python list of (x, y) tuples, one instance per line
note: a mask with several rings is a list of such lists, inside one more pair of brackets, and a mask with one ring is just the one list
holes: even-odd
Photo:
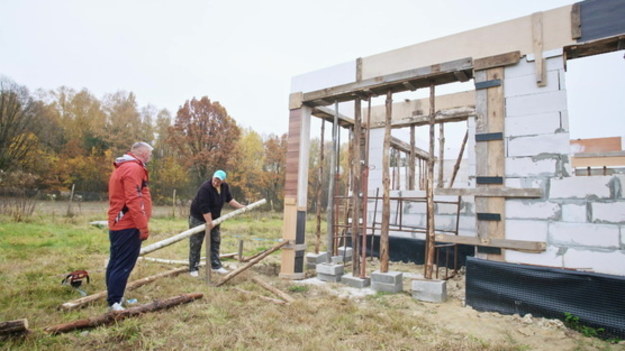
[(430, 86), (430, 158), (427, 160), (426, 202), (427, 202), (427, 235), (425, 240), (425, 279), (432, 279), (434, 270), (434, 85)]

